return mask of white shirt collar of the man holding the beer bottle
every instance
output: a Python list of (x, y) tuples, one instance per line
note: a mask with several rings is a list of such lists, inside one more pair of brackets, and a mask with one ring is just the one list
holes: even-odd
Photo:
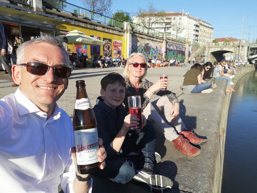
[[(37, 114), (40, 117), (46, 117), (46, 113), (42, 112), (31, 100), (29, 100), (18, 88), (14, 93), (14, 98), (16, 101), (16, 108), (20, 116), (32, 113)], [(53, 119), (58, 119), (60, 117), (60, 108), (58, 107), (57, 103), (54, 105), (54, 109), (52, 112)]]

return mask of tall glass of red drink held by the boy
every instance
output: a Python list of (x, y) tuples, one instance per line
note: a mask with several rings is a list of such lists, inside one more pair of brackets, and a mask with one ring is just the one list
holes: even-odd
[(139, 124), (130, 129), (142, 129), (142, 111), (141, 111), (141, 97), (140, 96), (128, 96), (128, 112), (134, 114), (139, 118)]

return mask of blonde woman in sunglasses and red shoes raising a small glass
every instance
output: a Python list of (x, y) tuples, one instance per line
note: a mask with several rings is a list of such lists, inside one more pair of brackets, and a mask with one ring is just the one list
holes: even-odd
[[(175, 148), (185, 155), (191, 157), (199, 155), (201, 150), (192, 146), (189, 141), (199, 145), (208, 140), (196, 137), (191, 130), (186, 128), (179, 117), (179, 102), (176, 94), (169, 90), (161, 90), (167, 88), (168, 79), (159, 79), (153, 84), (145, 79), (147, 69), (146, 59), (142, 53), (130, 55), (123, 72), (127, 85), (125, 100), (123, 101), (125, 109), (128, 111), (128, 96), (140, 95), (142, 114), (146, 119), (152, 119), (155, 122), (155, 129), (162, 133), (166, 139), (172, 141)], [(153, 94), (159, 95), (161, 98), (151, 103), (150, 98)], [(162, 115), (165, 117), (164, 119)]]

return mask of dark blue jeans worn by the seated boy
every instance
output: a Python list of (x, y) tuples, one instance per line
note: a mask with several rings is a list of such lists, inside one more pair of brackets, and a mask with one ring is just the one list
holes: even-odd
[[(126, 135), (122, 144), (122, 155), (113, 159), (106, 159), (105, 168), (94, 175), (125, 184), (133, 179), (137, 170), (143, 167), (153, 168), (156, 139), (154, 127), (146, 124), (139, 134), (136, 134), (135, 130), (129, 132), (131, 132), (130, 137)], [(132, 151), (139, 151), (139, 155), (127, 155)]]

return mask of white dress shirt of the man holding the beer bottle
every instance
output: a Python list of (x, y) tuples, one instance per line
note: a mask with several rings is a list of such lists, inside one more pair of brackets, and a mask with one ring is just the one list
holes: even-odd
[(0, 192), (58, 192), (60, 183), (73, 192), (72, 146), (72, 121), (57, 104), (47, 120), (19, 88), (0, 100)]

